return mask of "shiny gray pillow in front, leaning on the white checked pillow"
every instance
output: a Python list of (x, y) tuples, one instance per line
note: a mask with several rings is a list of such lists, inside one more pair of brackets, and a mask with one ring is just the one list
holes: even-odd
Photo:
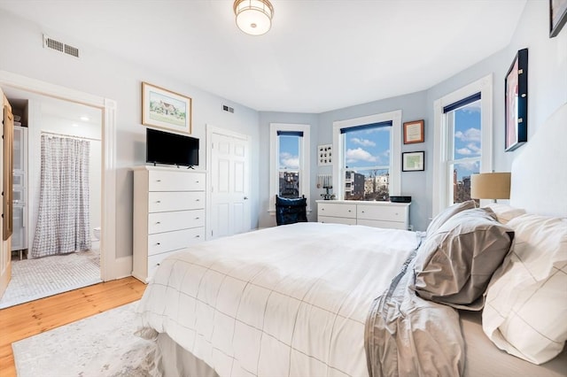
[(480, 310), (483, 294), (514, 240), (514, 231), (492, 210), (455, 214), (423, 241), (416, 255), (418, 296), (441, 304)]

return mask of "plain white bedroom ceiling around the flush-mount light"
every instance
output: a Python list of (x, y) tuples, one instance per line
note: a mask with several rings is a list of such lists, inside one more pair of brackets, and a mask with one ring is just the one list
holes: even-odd
[(257, 111), (319, 113), (431, 88), (489, 57), (526, 0), (271, 2), (260, 36), (237, 29), (232, 0), (0, 0), (0, 10)]

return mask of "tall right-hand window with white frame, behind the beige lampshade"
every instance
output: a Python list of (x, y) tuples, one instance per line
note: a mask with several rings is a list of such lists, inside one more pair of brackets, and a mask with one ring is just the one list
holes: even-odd
[(491, 171), (492, 75), (440, 98), (434, 107), (436, 215), (470, 199), (471, 174)]

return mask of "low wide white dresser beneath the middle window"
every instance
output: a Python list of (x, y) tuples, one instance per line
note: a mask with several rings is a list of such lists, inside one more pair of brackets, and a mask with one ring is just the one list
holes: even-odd
[(411, 203), (317, 200), (317, 221), (407, 230), (409, 204)]

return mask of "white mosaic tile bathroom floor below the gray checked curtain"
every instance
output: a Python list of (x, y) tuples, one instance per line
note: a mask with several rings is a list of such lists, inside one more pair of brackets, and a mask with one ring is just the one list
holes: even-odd
[(98, 250), (12, 261), (12, 280), (0, 299), (0, 309), (101, 281)]

